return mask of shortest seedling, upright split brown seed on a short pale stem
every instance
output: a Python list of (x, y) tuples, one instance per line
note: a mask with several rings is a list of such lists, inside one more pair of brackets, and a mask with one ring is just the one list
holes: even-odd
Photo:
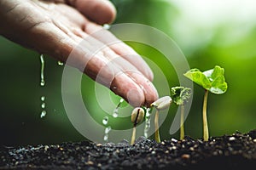
[(137, 107), (131, 112), (131, 122), (133, 123), (131, 144), (134, 144), (134, 142), (135, 142), (136, 126), (140, 122), (143, 122), (144, 114), (145, 114), (145, 112), (144, 112), (143, 108), (141, 108), (141, 107)]

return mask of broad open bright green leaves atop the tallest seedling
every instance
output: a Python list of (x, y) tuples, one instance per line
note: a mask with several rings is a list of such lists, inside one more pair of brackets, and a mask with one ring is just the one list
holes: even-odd
[(209, 90), (212, 94), (224, 94), (228, 85), (224, 78), (224, 68), (216, 65), (214, 69), (201, 72), (198, 69), (191, 69), (184, 74), (202, 88)]

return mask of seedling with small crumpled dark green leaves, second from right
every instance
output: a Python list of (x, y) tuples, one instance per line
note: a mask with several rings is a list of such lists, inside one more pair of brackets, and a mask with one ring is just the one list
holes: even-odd
[(174, 87), (172, 88), (172, 100), (176, 105), (181, 105), (181, 114), (180, 114), (180, 136), (179, 139), (184, 139), (184, 110), (185, 106), (189, 102), (192, 91), (191, 88), (184, 87)]

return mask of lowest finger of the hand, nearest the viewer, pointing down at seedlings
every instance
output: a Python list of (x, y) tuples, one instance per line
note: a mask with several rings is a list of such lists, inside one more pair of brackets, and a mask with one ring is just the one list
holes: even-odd
[(90, 78), (124, 98), (130, 105), (140, 106), (144, 104), (143, 89), (125, 74), (113, 60), (105, 58), (102, 52), (91, 53), (84, 44), (82, 46), (79, 44), (69, 55), (67, 65), (73, 65), (80, 71), (84, 71)]

